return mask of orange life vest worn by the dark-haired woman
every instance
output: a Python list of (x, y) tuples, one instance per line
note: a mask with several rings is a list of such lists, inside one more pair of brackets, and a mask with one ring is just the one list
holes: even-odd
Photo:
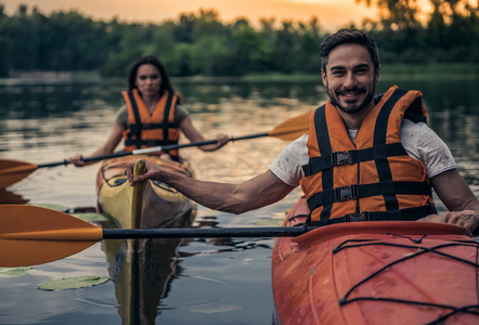
[[(165, 91), (152, 115), (138, 89), (124, 91), (122, 95), (128, 107), (128, 130), (124, 132), (125, 151), (178, 144), (180, 129), (174, 123), (177, 92)], [(167, 153), (174, 159), (179, 158), (178, 150)]]

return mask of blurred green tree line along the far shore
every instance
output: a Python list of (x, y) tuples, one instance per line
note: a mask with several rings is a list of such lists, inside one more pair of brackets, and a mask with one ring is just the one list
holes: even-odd
[[(469, 0), (357, 0), (379, 9), (360, 26), (377, 40), (383, 63), (478, 63), (478, 4)], [(420, 16), (423, 14), (423, 16)], [(177, 20), (125, 23), (95, 21), (82, 13), (43, 14), (21, 4), (9, 15), (0, 4), (0, 76), (11, 72), (99, 72), (126, 76), (144, 54), (157, 55), (172, 76), (318, 74), (318, 49), (327, 36), (320, 18), (308, 22), (246, 18), (225, 24), (212, 9)]]

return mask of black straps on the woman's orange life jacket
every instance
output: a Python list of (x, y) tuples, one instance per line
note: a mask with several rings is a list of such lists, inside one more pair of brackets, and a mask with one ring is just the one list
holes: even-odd
[[(142, 146), (158, 146), (158, 145), (170, 145), (178, 144), (178, 141), (172, 141), (168, 139), (168, 129), (176, 129), (178, 126), (174, 122), (169, 122), (168, 117), (171, 110), (171, 103), (174, 98), (174, 92), (168, 93), (163, 122), (160, 123), (142, 123), (140, 118), (140, 113), (138, 109), (137, 101), (132, 91), (128, 91), (128, 98), (130, 99), (131, 108), (134, 115), (134, 123), (129, 125), (130, 132), (128, 133), (128, 139), (125, 140), (125, 145), (134, 145), (137, 148)], [(141, 134), (142, 130), (154, 130), (161, 129), (164, 140), (143, 140)], [(134, 138), (133, 138), (134, 136)]]

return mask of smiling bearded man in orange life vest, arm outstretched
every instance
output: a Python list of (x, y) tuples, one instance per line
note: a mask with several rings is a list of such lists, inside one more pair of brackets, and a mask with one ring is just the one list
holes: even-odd
[[(310, 221), (418, 220), (469, 230), (479, 200), (445, 144), (424, 122), (422, 94), (392, 87), (374, 96), (379, 56), (371, 36), (341, 29), (320, 47), (331, 101), (310, 119), (310, 133), (290, 143), (270, 169), (241, 184), (204, 182), (147, 165), (144, 179), (168, 183), (211, 209), (242, 213), (284, 198), (299, 184)], [(438, 216), (430, 187), (451, 212)]]

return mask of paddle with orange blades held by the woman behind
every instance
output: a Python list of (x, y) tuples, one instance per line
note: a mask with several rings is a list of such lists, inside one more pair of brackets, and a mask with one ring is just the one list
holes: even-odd
[[(285, 141), (293, 141), (299, 136), (301, 136), (303, 133), (308, 132), (309, 129), (309, 116), (310, 113), (305, 113), (299, 116), (289, 118), (276, 127), (274, 127), (269, 132), (263, 133), (255, 133), (238, 138), (231, 138), (230, 142), (233, 141), (239, 141), (239, 140), (247, 140), (247, 139), (255, 139), (255, 138), (261, 138), (261, 136), (274, 136), (281, 140)], [(163, 151), (170, 151), (170, 150), (179, 150), (179, 148), (185, 148), (191, 146), (202, 146), (207, 144), (215, 144), (217, 143), (217, 140), (207, 140), (207, 141), (200, 141), (200, 142), (192, 142), (186, 144), (170, 144), (170, 145), (164, 145), (164, 146), (154, 146), (148, 148), (142, 148), (142, 150), (134, 150), (132, 152), (119, 152), (114, 153), (111, 155), (103, 155), (103, 156), (94, 156), (89, 158), (83, 158), (83, 161), (98, 161), (108, 158), (116, 158), (116, 157), (122, 157), (122, 156), (129, 156), (129, 155), (144, 155), (144, 154), (152, 154), (152, 153), (158, 153)], [(24, 162), (18, 160), (9, 160), (9, 159), (0, 159), (0, 188), (5, 188), (22, 179), (29, 176), (31, 172), (37, 170), (38, 168), (46, 168), (46, 167), (56, 167), (60, 165), (68, 165), (72, 164), (68, 160), (64, 159), (63, 161), (57, 162), (50, 162), (50, 164), (42, 164), (42, 165), (36, 165), (30, 162)]]

